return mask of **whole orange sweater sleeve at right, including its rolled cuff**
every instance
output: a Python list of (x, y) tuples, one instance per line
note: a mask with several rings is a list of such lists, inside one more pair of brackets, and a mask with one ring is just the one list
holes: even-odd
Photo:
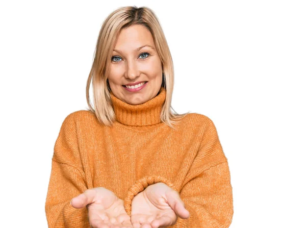
[(131, 213), (135, 195), (149, 184), (163, 182), (180, 193), (188, 219), (178, 218), (173, 228), (228, 228), (233, 217), (233, 195), (230, 170), (214, 123), (209, 119), (198, 153), (181, 190), (162, 176), (145, 177), (135, 183), (125, 198), (125, 209)]

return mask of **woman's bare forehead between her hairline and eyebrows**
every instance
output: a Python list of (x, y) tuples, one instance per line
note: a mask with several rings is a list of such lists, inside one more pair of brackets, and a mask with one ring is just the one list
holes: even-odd
[(152, 34), (146, 27), (135, 24), (120, 31), (115, 49), (129, 50), (145, 44), (155, 46)]

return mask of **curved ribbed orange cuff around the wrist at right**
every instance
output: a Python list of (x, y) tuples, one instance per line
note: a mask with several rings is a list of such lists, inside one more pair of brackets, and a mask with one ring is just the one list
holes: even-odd
[(153, 175), (153, 176), (145, 176), (144, 178), (136, 181), (130, 189), (127, 191), (127, 194), (124, 198), (124, 208), (128, 215), (131, 216), (131, 206), (132, 206), (132, 200), (133, 198), (140, 192), (142, 192), (146, 187), (149, 185), (154, 185), (156, 183), (164, 183), (168, 185), (170, 188), (174, 189), (176, 188), (172, 184), (171, 181), (167, 180), (163, 176)]

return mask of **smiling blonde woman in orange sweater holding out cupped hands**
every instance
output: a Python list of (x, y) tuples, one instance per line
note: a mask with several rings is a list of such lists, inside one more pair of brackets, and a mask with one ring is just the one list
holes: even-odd
[(69, 114), (56, 140), (49, 227), (231, 224), (230, 171), (215, 125), (172, 113), (172, 91), (172, 59), (154, 12), (115, 10), (99, 33), (90, 109)]

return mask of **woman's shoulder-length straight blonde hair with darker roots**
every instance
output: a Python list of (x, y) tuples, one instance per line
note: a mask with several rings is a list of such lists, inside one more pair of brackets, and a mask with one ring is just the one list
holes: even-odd
[[(176, 113), (171, 107), (171, 98), (174, 84), (174, 70), (170, 50), (155, 13), (147, 8), (136, 6), (120, 7), (113, 11), (103, 22), (97, 40), (94, 60), (87, 79), (86, 99), (91, 111), (100, 123), (111, 126), (115, 121), (115, 113), (111, 105), (110, 88), (108, 85), (109, 65), (112, 50), (121, 29), (134, 24), (142, 24), (152, 34), (157, 52), (163, 66), (163, 83), (166, 89), (166, 99), (161, 111), (161, 121), (173, 128), (185, 114)], [(92, 81), (94, 107), (91, 105), (89, 88)], [(173, 113), (171, 111), (173, 110)]]

